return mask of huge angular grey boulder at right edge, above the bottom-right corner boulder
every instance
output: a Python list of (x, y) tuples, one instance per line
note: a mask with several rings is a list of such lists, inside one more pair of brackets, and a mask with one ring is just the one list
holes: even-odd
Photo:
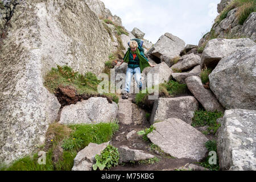
[(256, 109), (256, 46), (222, 59), (209, 75), (210, 89), (225, 109)]

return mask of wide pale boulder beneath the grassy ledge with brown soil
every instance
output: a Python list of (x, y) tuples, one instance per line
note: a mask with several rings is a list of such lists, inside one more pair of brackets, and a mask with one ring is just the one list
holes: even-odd
[(60, 123), (74, 125), (110, 122), (117, 116), (117, 109), (115, 102), (110, 104), (104, 97), (90, 97), (88, 100), (63, 107)]

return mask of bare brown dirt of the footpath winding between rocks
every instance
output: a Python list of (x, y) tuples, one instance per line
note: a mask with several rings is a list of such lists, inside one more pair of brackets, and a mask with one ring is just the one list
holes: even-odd
[[(126, 101), (119, 97), (119, 102), (126, 102), (127, 104), (130, 104), (134, 97), (134, 94), (130, 95), (129, 100)], [(146, 118), (144, 118), (144, 121), (139, 125), (125, 125), (122, 121), (119, 121), (119, 131), (114, 135), (111, 144), (115, 147), (127, 146), (131, 149), (142, 150), (147, 154), (154, 155), (159, 159), (159, 161), (154, 162), (153, 164), (139, 164), (138, 162), (123, 163), (117, 167), (111, 168), (110, 171), (171, 171), (183, 167), (187, 163), (195, 162), (191, 159), (174, 159), (171, 156), (159, 152), (158, 150), (154, 150), (154, 148), (151, 148), (151, 142), (143, 140), (142, 136), (137, 133), (133, 134), (133, 137), (129, 139), (126, 138), (127, 134), (131, 131), (135, 130), (138, 132), (148, 127), (150, 127), (150, 122), (147, 121)]]

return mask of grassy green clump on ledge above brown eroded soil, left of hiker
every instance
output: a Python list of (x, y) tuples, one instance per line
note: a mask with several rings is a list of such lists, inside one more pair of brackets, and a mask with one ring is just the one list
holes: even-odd
[[(51, 71), (44, 78), (44, 86), (51, 93), (55, 93), (59, 86), (72, 85), (76, 88), (78, 94), (95, 94), (97, 95), (98, 84), (101, 80), (98, 80), (96, 75), (92, 72), (86, 72), (84, 75), (73, 71), (72, 68), (68, 66), (59, 66), (57, 68), (52, 68)], [(103, 96), (108, 96), (112, 101), (118, 103), (118, 97), (112, 93), (101, 94)]]

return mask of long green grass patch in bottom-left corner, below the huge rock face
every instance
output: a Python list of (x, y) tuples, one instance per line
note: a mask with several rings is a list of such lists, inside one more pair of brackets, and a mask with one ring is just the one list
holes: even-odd
[[(99, 123), (97, 125), (71, 125), (65, 126), (53, 123), (49, 126), (46, 141), (46, 164), (38, 163), (38, 153), (33, 156), (24, 156), (16, 160), (10, 167), (2, 166), (2, 171), (71, 171), (73, 160), (77, 152), (88, 146), (89, 143), (108, 142), (118, 130), (117, 121)], [(62, 144), (62, 145), (61, 145)], [(60, 158), (54, 162), (53, 154), (57, 146), (62, 146), (64, 151)]]

